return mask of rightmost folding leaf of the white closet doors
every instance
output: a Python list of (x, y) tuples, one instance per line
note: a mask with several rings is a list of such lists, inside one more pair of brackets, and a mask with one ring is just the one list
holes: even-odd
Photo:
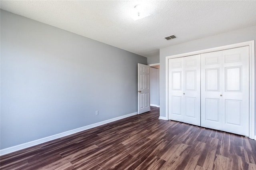
[(249, 47), (223, 51), (223, 130), (249, 136)]

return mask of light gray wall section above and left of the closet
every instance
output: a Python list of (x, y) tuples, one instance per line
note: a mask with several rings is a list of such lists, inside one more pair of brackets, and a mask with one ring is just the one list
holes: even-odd
[[(176, 55), (181, 53), (187, 53), (192, 51), (198, 51), (202, 49), (208, 49), (213, 47), (219, 47), (223, 45), (230, 45), (234, 43), (246, 42), (256, 40), (256, 26), (226, 32), (215, 36), (210, 36), (191, 42), (186, 42), (178, 45), (160, 49), (160, 116), (166, 116), (166, 65), (165, 57), (170, 55)], [(256, 49), (256, 48), (255, 48)], [(256, 127), (255, 127), (256, 130)]]

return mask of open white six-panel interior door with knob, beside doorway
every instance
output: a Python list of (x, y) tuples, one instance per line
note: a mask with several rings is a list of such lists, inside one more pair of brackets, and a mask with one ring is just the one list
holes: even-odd
[(138, 63), (138, 114), (150, 111), (150, 66)]

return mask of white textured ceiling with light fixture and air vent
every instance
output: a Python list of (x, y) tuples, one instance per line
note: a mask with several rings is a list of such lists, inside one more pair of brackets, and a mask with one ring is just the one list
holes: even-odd
[[(142, 4), (151, 14), (134, 21)], [(256, 1), (10, 1), (1, 9), (125, 49), (159, 57), (159, 49), (256, 25)], [(176, 39), (164, 37), (175, 34)]]

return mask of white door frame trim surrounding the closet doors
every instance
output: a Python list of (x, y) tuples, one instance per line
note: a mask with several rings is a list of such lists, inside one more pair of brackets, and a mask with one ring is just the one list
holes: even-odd
[(169, 120), (169, 59), (178, 57), (187, 57), (190, 55), (198, 55), (202, 53), (209, 53), (214, 51), (222, 51), (225, 49), (232, 49), (238, 47), (249, 46), (249, 138), (256, 140), (255, 135), (255, 51), (254, 40), (242, 43), (236, 43), (231, 45), (224, 45), (220, 47), (214, 47), (209, 49), (203, 49), (199, 51), (192, 51), (188, 53), (182, 53), (177, 55), (171, 55), (166, 57), (166, 120)]

